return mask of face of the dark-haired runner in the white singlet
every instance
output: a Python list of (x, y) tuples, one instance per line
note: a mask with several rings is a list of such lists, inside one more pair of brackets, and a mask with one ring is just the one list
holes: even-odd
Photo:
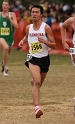
[(40, 18), (42, 18), (42, 14), (40, 12), (40, 9), (39, 8), (32, 8), (31, 16), (32, 16), (33, 21), (38, 21)]

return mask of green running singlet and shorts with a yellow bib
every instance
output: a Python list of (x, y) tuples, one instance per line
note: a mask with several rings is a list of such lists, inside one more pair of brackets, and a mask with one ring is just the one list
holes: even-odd
[(13, 33), (14, 27), (12, 26), (11, 22), (8, 18), (2, 17), (2, 14), (0, 13), (0, 38), (4, 38), (8, 46), (11, 46), (13, 44)]

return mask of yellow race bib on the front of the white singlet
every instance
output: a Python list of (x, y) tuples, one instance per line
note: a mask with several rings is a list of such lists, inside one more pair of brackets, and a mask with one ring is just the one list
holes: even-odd
[(43, 51), (42, 44), (40, 42), (32, 42), (30, 44), (30, 50), (32, 53), (42, 52)]

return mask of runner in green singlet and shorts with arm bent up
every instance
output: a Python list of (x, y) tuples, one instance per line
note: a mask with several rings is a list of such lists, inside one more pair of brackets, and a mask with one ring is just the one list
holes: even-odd
[(8, 76), (8, 59), (13, 44), (14, 28), (18, 28), (15, 13), (9, 12), (9, 0), (3, 0), (2, 12), (0, 12), (0, 46), (3, 48), (2, 72)]

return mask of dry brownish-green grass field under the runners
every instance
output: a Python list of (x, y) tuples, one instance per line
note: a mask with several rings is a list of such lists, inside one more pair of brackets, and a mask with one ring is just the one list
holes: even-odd
[(44, 114), (40, 119), (35, 118), (31, 75), (25, 60), (26, 53), (12, 50), (9, 76), (4, 77), (0, 72), (0, 124), (75, 124), (72, 101), (75, 69), (70, 56), (51, 55), (51, 66), (41, 87), (40, 104)]

